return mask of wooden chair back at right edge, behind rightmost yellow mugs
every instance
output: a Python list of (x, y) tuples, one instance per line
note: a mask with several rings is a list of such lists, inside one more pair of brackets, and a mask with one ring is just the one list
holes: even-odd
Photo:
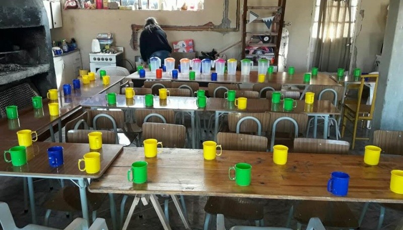
[(375, 130), (373, 143), (384, 154), (403, 155), (403, 131)]

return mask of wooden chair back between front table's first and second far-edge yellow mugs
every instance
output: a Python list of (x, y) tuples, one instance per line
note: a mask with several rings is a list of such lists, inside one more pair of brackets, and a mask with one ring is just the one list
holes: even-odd
[(164, 147), (183, 148), (185, 146), (186, 127), (176, 124), (146, 122), (143, 124), (143, 139), (154, 138)]

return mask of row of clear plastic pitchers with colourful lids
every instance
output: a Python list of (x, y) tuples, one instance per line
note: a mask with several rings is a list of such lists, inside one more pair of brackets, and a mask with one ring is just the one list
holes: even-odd
[[(188, 73), (190, 67), (195, 72), (201, 72), (202, 74), (210, 75), (210, 71), (212, 67), (216, 67), (216, 72), (218, 75), (224, 75), (225, 71), (225, 60), (222, 58), (218, 58), (217, 60), (210, 60), (205, 58), (200, 60), (198, 58), (194, 58), (192, 60), (188, 58), (182, 58), (180, 61), (180, 70), (182, 73)], [(227, 60), (227, 71), (228, 74), (235, 74), (237, 60), (234, 58)], [(164, 59), (164, 64), (166, 67), (166, 71), (170, 72), (175, 68), (175, 58), (167, 57)], [(248, 75), (250, 72), (250, 67), (252, 66), (253, 62), (250, 59), (242, 59), (241, 60), (241, 74)], [(258, 61), (258, 74), (266, 73), (268, 68), (269, 62), (267, 59), (263, 58)], [(150, 58), (150, 66), (151, 71), (155, 72), (157, 68), (161, 67), (161, 59), (159, 57), (151, 57)]]

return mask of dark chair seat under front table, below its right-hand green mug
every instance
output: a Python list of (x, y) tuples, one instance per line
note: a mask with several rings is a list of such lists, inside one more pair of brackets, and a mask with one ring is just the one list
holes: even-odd
[(224, 214), (233, 219), (260, 220), (263, 218), (263, 205), (248, 198), (210, 196), (205, 205), (210, 214)]

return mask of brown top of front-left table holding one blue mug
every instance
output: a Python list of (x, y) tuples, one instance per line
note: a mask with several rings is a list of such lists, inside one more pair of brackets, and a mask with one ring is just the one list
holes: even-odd
[[(15, 141), (0, 140), (1, 151), (18, 145)], [(48, 163), (47, 148), (63, 146), (64, 165), (52, 168)], [(112, 162), (122, 151), (123, 146), (118, 144), (103, 144), (99, 150), (101, 154), (101, 171), (96, 174), (87, 174), (78, 169), (78, 160), (90, 152), (88, 144), (82, 143), (53, 143), (34, 142), (27, 147), (28, 163), (21, 167), (14, 167), (11, 163), (0, 161), (0, 175), (2, 176), (31, 176), (41, 178), (99, 178), (108, 169)], [(82, 163), (84, 165), (84, 163)]]

